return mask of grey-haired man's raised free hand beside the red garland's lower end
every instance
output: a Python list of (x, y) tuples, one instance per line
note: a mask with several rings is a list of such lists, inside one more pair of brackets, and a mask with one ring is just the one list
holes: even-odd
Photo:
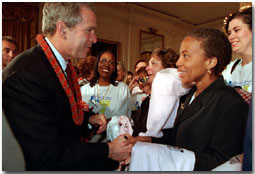
[(107, 126), (106, 117), (104, 114), (95, 114), (89, 117), (89, 123), (92, 125), (98, 125), (99, 129), (96, 134), (101, 134), (105, 131)]

